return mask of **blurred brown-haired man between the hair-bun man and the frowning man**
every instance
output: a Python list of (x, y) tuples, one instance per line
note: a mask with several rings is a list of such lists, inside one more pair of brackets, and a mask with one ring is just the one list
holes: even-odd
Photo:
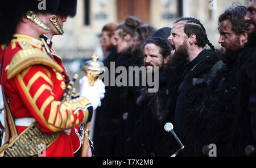
[[(141, 25), (135, 30), (132, 43), (132, 54), (134, 60), (138, 60), (139, 62), (137, 64), (133, 64), (133, 66), (140, 67), (143, 65), (142, 45), (144, 41), (150, 38), (155, 31), (156, 29), (150, 25)], [(139, 74), (139, 77), (141, 82), (142, 75)], [(140, 138), (137, 134), (137, 132), (139, 131), (139, 128), (137, 126), (140, 123), (140, 112), (136, 109), (137, 107), (135, 106), (135, 99), (137, 99), (137, 96), (139, 95), (138, 90), (141, 89), (141, 86), (142, 85), (140, 85), (140, 87), (129, 86), (128, 88), (128, 91), (130, 93), (130, 96), (128, 96), (128, 98), (131, 99), (131, 103), (134, 103), (131, 104), (131, 106), (133, 106), (134, 108), (133, 110), (129, 111), (129, 115), (127, 116), (127, 120), (125, 122), (125, 156), (140, 156), (140, 144), (138, 143)]]

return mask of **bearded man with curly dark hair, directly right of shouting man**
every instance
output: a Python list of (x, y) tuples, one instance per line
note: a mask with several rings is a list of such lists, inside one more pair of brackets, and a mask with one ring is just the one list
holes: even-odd
[(209, 156), (210, 144), (216, 145), (216, 156), (234, 156), (233, 149), (236, 145), (231, 141), (234, 138), (231, 132), (237, 103), (237, 58), (247, 43), (249, 30), (249, 23), (244, 20), (245, 14), (245, 6), (232, 6), (218, 18), (218, 43), (222, 46), (222, 60), (226, 67), (214, 78), (205, 93), (205, 108), (195, 128), (198, 156)]

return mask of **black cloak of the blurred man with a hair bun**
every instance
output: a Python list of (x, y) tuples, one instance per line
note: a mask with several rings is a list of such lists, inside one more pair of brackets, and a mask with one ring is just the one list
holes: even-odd
[[(109, 54), (109, 59), (104, 61), (104, 65), (110, 71), (110, 62), (117, 62), (120, 54), (114, 47)], [(105, 87), (106, 93), (101, 100), (101, 107), (96, 110), (96, 118), (94, 124), (94, 156), (114, 156), (115, 143), (117, 140), (117, 133), (119, 128), (119, 87), (110, 86), (110, 72), (109, 72), (109, 86)], [(118, 127), (117, 127), (118, 126)]]

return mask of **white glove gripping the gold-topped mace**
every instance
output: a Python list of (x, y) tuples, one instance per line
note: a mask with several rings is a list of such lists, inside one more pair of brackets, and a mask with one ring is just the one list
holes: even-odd
[(105, 85), (98, 79), (93, 86), (89, 86), (88, 78), (86, 76), (79, 80), (80, 84), (80, 96), (87, 98), (93, 106), (93, 110), (96, 110), (98, 106), (101, 106), (101, 99), (104, 98)]

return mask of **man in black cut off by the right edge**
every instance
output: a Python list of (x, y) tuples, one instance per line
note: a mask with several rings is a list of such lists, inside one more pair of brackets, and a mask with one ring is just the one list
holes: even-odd
[(251, 1), (245, 20), (250, 24), (249, 40), (238, 57), (237, 156), (256, 156), (256, 1)]

